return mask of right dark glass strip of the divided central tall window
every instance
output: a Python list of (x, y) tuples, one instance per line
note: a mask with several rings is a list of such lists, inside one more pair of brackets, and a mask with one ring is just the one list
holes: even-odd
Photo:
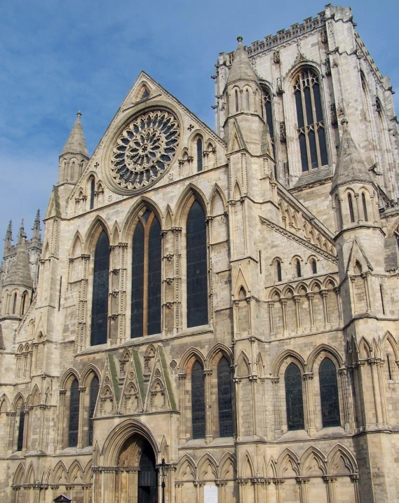
[(154, 217), (148, 240), (148, 321), (147, 333), (161, 332), (161, 226)]

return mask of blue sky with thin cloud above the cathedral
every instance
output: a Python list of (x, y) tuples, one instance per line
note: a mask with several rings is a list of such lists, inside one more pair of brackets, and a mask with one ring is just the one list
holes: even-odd
[[(345, 5), (345, 4), (342, 4)], [(353, 0), (358, 32), (399, 93), (397, 0)], [(81, 110), (89, 154), (140, 70), (214, 127), (217, 55), (323, 11), (322, 1), (12, 0), (0, 3), (0, 238), (30, 237)], [(399, 114), (399, 94), (395, 95)], [(0, 243), (1, 246), (1, 243)]]

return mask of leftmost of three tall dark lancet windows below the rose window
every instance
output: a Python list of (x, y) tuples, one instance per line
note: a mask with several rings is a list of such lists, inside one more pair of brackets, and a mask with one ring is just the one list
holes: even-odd
[(108, 327), (109, 239), (102, 231), (94, 254), (93, 304), (90, 344), (105, 344)]

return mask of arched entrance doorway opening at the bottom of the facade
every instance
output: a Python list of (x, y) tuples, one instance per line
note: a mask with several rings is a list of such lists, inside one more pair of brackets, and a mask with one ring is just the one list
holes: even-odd
[(116, 476), (117, 503), (158, 503), (158, 473), (154, 450), (141, 435), (123, 444)]

